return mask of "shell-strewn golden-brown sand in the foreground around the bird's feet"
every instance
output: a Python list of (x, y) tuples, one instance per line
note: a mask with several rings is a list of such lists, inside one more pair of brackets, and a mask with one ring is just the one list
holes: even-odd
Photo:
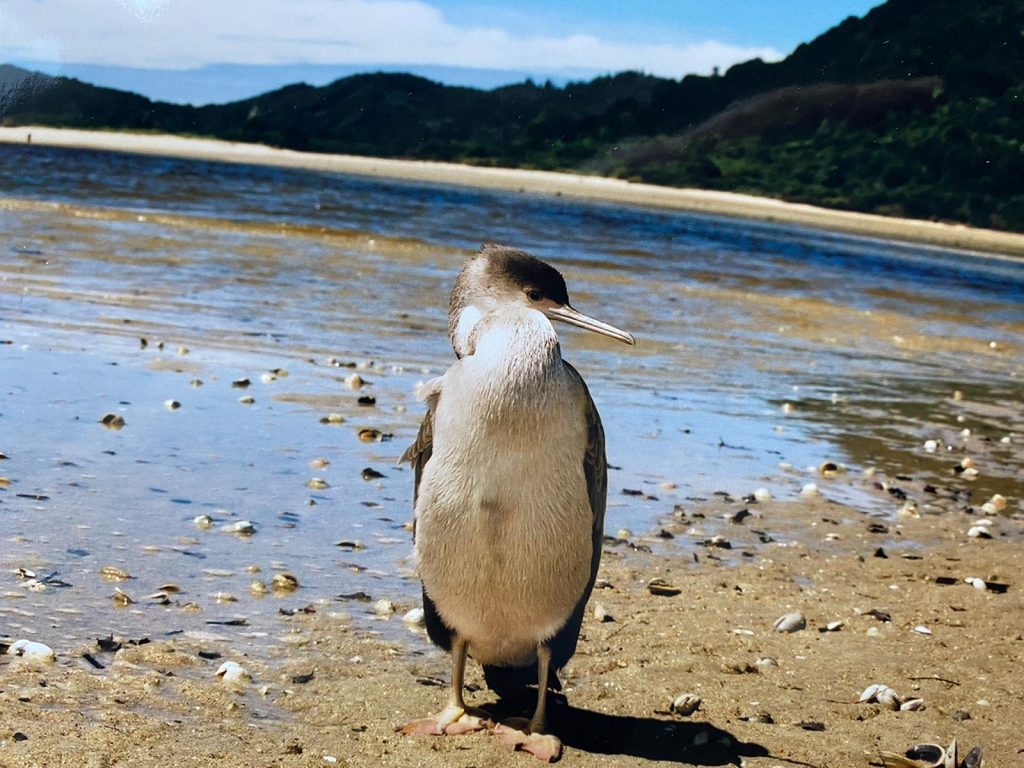
[[(695, 515), (738, 506), (694, 508), (681, 524), (699, 527)], [(607, 586), (593, 604), (613, 621), (588, 616), (563, 676), (568, 706), (552, 713), (564, 765), (880, 765), (881, 751), (953, 738), (962, 757), (977, 744), (987, 765), (1020, 760), (1019, 540), (967, 540), (965, 515), (906, 517), (870, 532), (867, 519), (841, 523), (855, 510), (823, 500), (742, 506), (758, 516), (735, 526), (732, 550), (709, 549), (699, 563), (608, 548)], [(816, 528), (812, 543), (772, 537), (795, 516)], [(975, 589), (964, 581), (971, 575), (1010, 589)], [(652, 577), (682, 593), (651, 595)], [(247, 659), (228, 628), (221, 639), (116, 653), (62, 648), (48, 665), (0, 657), (0, 765), (536, 764), (486, 733), (395, 734), (396, 724), (443, 703), (446, 656), (411, 633), (385, 642), (354, 631), (337, 603), (312, 608), (279, 617), (270, 663)], [(773, 632), (791, 611), (807, 628)], [(823, 632), (831, 622), (842, 627)], [(226, 659), (248, 668), (252, 682), (219, 681)], [(472, 665), (468, 682), (471, 703), (494, 703)], [(924, 708), (858, 703), (873, 683)], [(670, 712), (686, 692), (699, 709)]]

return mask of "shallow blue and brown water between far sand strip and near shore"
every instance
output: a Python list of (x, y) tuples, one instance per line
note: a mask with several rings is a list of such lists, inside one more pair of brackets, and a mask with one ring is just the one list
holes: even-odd
[[(895, 514), (869, 483), (807, 471), (826, 460), (848, 477), (878, 467), (948, 483), (974, 456), (971, 499), (1001, 493), (1020, 510), (1020, 261), (526, 194), (43, 147), (0, 146), (0, 195), (9, 635), (71, 645), (215, 631), (265, 652), (276, 607), (356, 592), (415, 604), (402, 527), (412, 477), (395, 462), (422, 414), (416, 384), (453, 358), (452, 280), (484, 241), (549, 259), (579, 308), (638, 339), (562, 333), (608, 436), (609, 534), (646, 534), (716, 492), (799, 498), (812, 480), (858, 512)], [(369, 383), (349, 389), (355, 369), (329, 358)], [(261, 380), (272, 369), (288, 376)], [(231, 386), (246, 377), (248, 389)], [(322, 424), (332, 412), (346, 423)], [(125, 427), (100, 425), (106, 413)], [(362, 442), (362, 427), (393, 438)], [(936, 454), (929, 438), (942, 442)], [(330, 464), (311, 468), (317, 458)], [(364, 480), (366, 467), (385, 476)], [(314, 476), (329, 486), (310, 489)], [(215, 525), (198, 529), (201, 514)], [(219, 529), (238, 519), (257, 532)], [(104, 582), (108, 564), (136, 579)], [(72, 586), (30, 592), (17, 567)], [(250, 595), (252, 580), (280, 569), (302, 589)], [(165, 582), (203, 611), (142, 599)], [(115, 586), (138, 602), (115, 608)], [(220, 592), (237, 602), (216, 602)], [(207, 624), (238, 616), (248, 626)]]

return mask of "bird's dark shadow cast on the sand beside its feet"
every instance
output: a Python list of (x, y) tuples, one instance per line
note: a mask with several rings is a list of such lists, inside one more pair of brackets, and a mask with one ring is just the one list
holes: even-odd
[[(523, 702), (500, 699), (486, 708), (504, 719), (521, 715)], [(766, 757), (758, 743), (739, 741), (728, 731), (710, 723), (687, 722), (667, 716), (629, 717), (581, 710), (558, 696), (551, 702), (548, 725), (562, 744), (598, 755), (624, 755), (684, 765), (740, 765), (742, 758)]]

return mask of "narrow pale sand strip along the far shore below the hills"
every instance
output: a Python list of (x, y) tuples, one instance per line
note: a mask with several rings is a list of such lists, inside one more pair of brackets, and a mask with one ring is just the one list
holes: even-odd
[(352, 155), (323, 155), (278, 150), (218, 139), (156, 133), (86, 131), (42, 126), (0, 127), (0, 142), (32, 143), (141, 155), (193, 158), (227, 163), (251, 163), (285, 168), (427, 181), (432, 183), (507, 189), (578, 200), (625, 203), (691, 213), (798, 224), (847, 234), (981, 251), (990, 255), (1024, 257), (1024, 234), (978, 229), (961, 224), (891, 218), (835, 211), (817, 206), (783, 203), (751, 195), (677, 189), (621, 179), (551, 171), (483, 168), (413, 160), (387, 160)]

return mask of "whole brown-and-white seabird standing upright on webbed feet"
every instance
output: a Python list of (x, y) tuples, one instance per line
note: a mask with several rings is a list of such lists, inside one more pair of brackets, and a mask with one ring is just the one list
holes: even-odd
[[(449, 305), (456, 362), (425, 384), (426, 415), (402, 460), (415, 470), (414, 558), (430, 639), (452, 654), (447, 706), (407, 734), (493, 729), (541, 760), (549, 688), (575, 651), (597, 578), (607, 496), (601, 419), (562, 359), (552, 321), (635, 344), (577, 311), (550, 264), (485, 244), (459, 272)], [(503, 695), (537, 684), (530, 718), (495, 723), (467, 707), (467, 656)]]

